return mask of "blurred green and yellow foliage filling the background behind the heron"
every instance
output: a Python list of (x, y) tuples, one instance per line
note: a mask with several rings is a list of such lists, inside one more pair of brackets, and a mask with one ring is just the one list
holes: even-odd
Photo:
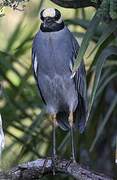
[[(5, 8), (5, 12), (1, 12), (5, 16), (0, 18), (0, 82), (3, 86), (0, 112), (6, 139), (2, 168), (51, 155), (52, 127), (31, 67), (32, 40), (39, 29), (39, 12), (44, 7), (56, 7), (61, 11), (79, 44), (84, 37), (79, 60), (85, 53), (89, 114), (85, 133), (76, 132), (75, 135), (77, 160), (117, 178), (116, 18), (103, 13), (97, 18), (93, 7), (65, 9), (49, 0), (29, 1), (24, 11), (19, 7), (19, 11)], [(69, 132), (57, 129), (57, 147), (60, 157), (70, 158)], [(52, 179), (49, 176), (43, 179), (49, 178)]]

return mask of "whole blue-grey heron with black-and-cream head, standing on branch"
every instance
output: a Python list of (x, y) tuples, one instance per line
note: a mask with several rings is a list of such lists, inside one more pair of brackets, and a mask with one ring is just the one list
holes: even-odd
[(84, 132), (87, 114), (86, 71), (82, 61), (73, 73), (79, 44), (65, 25), (61, 12), (46, 8), (32, 44), (34, 77), (53, 125), (53, 162), (56, 159), (56, 125), (70, 131), (71, 160), (76, 162), (74, 131)]

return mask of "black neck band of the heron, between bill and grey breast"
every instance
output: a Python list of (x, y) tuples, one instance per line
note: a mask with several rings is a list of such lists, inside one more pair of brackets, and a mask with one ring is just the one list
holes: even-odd
[(40, 29), (42, 32), (56, 32), (64, 29), (64, 22), (62, 21), (61, 23), (53, 23), (51, 26), (44, 26), (42, 23), (40, 26)]

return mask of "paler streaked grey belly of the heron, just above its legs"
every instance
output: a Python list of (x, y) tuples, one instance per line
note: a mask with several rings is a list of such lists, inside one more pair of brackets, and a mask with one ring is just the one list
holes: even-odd
[(77, 93), (74, 82), (69, 76), (55, 74), (52, 78), (47, 74), (41, 74), (39, 83), (49, 112), (51, 112), (50, 108), (55, 109), (57, 112), (59, 110), (68, 111), (76, 108)]

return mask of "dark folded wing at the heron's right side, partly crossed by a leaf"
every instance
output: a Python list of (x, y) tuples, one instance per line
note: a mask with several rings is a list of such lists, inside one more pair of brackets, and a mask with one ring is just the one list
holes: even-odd
[[(77, 40), (73, 37), (73, 64), (77, 58), (79, 45)], [(86, 114), (87, 114), (87, 91), (86, 91), (86, 71), (84, 62), (82, 61), (75, 76), (74, 76), (75, 87), (78, 94), (78, 106), (74, 112), (75, 127), (80, 129), (82, 133), (85, 128)]]

